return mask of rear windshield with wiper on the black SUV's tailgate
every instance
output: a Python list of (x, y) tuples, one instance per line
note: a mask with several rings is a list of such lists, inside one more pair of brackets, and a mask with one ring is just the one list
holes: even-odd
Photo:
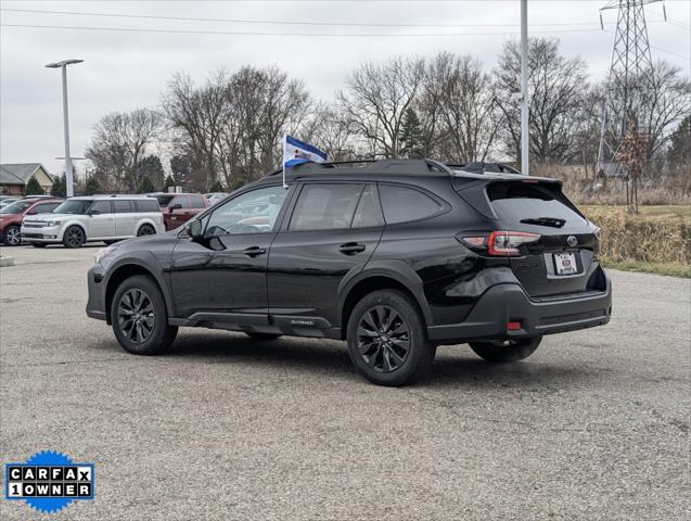
[[(571, 205), (556, 186), (514, 182), (494, 182), (487, 196), (501, 220), (517, 224), (556, 223), (558, 227), (584, 225), (586, 219)], [(526, 223), (527, 221), (527, 223)]]

